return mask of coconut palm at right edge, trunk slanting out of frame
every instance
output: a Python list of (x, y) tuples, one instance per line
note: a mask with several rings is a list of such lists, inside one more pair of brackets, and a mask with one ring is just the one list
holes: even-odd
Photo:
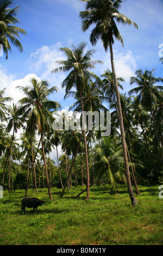
[(149, 70), (143, 71), (141, 69), (136, 70), (135, 71), (136, 77), (130, 78), (130, 84), (131, 85), (137, 84), (138, 87), (131, 89), (129, 91), (129, 95), (133, 93), (136, 93), (136, 94), (139, 93), (139, 96), (137, 97), (137, 99), (140, 100), (142, 102), (142, 105), (151, 112), (156, 141), (158, 143), (160, 156), (163, 163), (163, 153), (160, 146), (158, 131), (156, 129), (154, 109), (153, 109), (153, 104), (157, 104), (158, 100), (162, 99), (162, 96), (159, 90), (163, 89), (163, 86), (155, 85), (155, 83), (163, 82), (163, 78), (155, 77), (154, 72), (155, 72), (155, 69), (153, 69), (152, 71), (149, 71)]

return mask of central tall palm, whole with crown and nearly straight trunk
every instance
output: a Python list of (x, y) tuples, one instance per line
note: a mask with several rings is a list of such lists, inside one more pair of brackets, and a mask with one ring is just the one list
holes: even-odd
[[(88, 77), (97, 78), (93, 72), (89, 69), (95, 68), (96, 64), (102, 64), (100, 60), (91, 60), (93, 53), (95, 50), (87, 51), (84, 54), (84, 50), (86, 47), (86, 42), (81, 42), (77, 47), (73, 46), (73, 48), (60, 48), (66, 56), (67, 60), (58, 60), (58, 64), (62, 65), (59, 68), (52, 70), (52, 72), (61, 72), (61, 71), (70, 71), (68, 76), (62, 82), (62, 88), (66, 87), (66, 93), (69, 92), (73, 87), (80, 93), (80, 100), (81, 100), (81, 108), (82, 113), (84, 112), (83, 107), (83, 92), (86, 86), (86, 80)], [(82, 118), (83, 127), (85, 127), (85, 120)], [(86, 173), (87, 173), (87, 194), (86, 200), (89, 199), (89, 162), (87, 158), (87, 144), (86, 144), (86, 132), (84, 128), (84, 145), (85, 145), (85, 158), (86, 158)]]

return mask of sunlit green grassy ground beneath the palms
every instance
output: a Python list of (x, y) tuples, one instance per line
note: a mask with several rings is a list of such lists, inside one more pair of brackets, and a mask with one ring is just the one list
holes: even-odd
[(90, 200), (83, 187), (71, 188), (62, 199), (61, 190), (47, 189), (29, 197), (45, 199), (36, 212), (21, 213), (24, 191), (4, 191), (0, 199), (0, 245), (162, 245), (163, 198), (159, 186), (139, 186), (138, 205), (131, 207), (124, 188), (109, 192), (109, 187), (91, 187)]

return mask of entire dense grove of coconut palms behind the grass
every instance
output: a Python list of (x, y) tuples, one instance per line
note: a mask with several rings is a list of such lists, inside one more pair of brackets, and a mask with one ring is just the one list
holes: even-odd
[[(85, 53), (86, 43), (80, 42), (72, 48), (61, 48), (65, 60), (58, 60), (59, 67), (52, 72), (66, 72), (62, 87), (65, 98), (75, 100), (71, 110), (111, 112), (110, 136), (102, 137), (101, 131), (95, 130), (53, 130), (53, 121), (59, 119), (55, 111), (61, 106), (49, 100), (53, 93), (57, 98), (57, 87), (49, 88), (48, 81), (33, 78), (26, 87), (19, 87), (24, 97), (16, 105), (5, 97), (4, 88), (0, 90), (0, 185), (9, 190), (23, 188), (26, 193), (30, 187), (36, 191), (47, 187), (51, 199), (54, 186), (62, 188), (62, 197), (66, 187), (69, 190), (71, 186), (86, 185), (89, 199), (91, 185), (109, 184), (113, 190), (118, 184), (126, 184), (135, 205), (133, 186), (140, 193), (140, 182), (151, 185), (162, 179), (163, 78), (155, 77), (155, 69), (136, 70), (130, 78), (135, 88), (123, 93), (125, 81), (116, 77), (112, 51), (115, 39), (123, 44), (116, 22), (138, 27), (119, 13), (122, 0), (83, 2), (86, 10), (80, 12), (82, 28), (86, 31), (93, 23), (96, 25), (90, 40), (95, 45), (101, 39), (105, 51), (110, 50), (112, 70), (106, 70), (101, 77), (94, 74), (91, 70), (102, 62), (92, 60), (95, 50)], [(17, 8), (8, 9), (10, 3), (5, 0), (0, 4), (0, 43), (7, 57), (11, 47), (8, 40), (21, 50), (15, 35), (25, 34), (14, 26), (18, 23)], [(82, 118), (84, 125), (85, 121)], [(57, 163), (51, 159), (53, 148)]]

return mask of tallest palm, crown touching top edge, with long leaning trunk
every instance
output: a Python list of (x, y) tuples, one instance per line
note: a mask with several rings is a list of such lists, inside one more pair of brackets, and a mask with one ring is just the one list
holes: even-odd
[(132, 205), (136, 205), (137, 201), (135, 199), (133, 188), (131, 186), (131, 181), (130, 181), (126, 140), (124, 136), (123, 115), (122, 115), (122, 109), (121, 109), (120, 93), (118, 90), (117, 76), (115, 71), (114, 54), (112, 50), (112, 45), (114, 44), (115, 39), (118, 41), (121, 41), (123, 45), (123, 38), (120, 31), (118, 30), (116, 22), (122, 23), (123, 25), (134, 25), (134, 27), (136, 28), (138, 28), (138, 26), (134, 21), (128, 19), (126, 16), (119, 13), (120, 8), (122, 7), (122, 3), (125, 0), (112, 0), (112, 1), (111, 0), (80, 0), (80, 1), (85, 3), (85, 9), (86, 9), (85, 11), (80, 12), (80, 17), (82, 17), (83, 31), (86, 31), (87, 29), (90, 28), (91, 25), (95, 24), (96, 26), (95, 28), (92, 29), (91, 35), (90, 35), (90, 41), (92, 45), (96, 45), (97, 40), (101, 39), (103, 42), (105, 51), (108, 51), (108, 47), (110, 49), (111, 68), (114, 76), (118, 118), (120, 121), (121, 141), (122, 141), (122, 147), (123, 147), (128, 192), (129, 192)]

